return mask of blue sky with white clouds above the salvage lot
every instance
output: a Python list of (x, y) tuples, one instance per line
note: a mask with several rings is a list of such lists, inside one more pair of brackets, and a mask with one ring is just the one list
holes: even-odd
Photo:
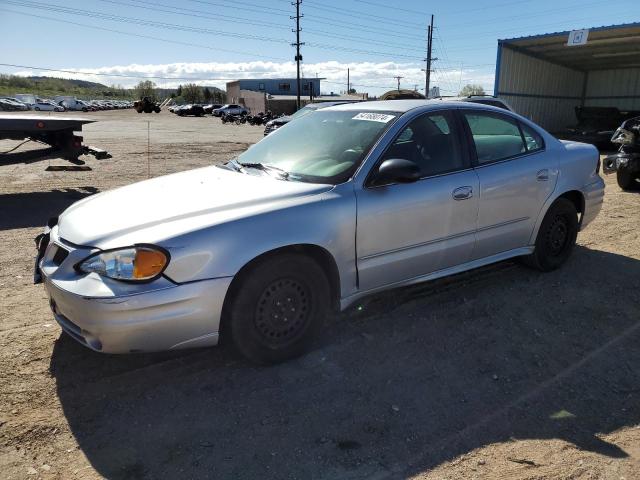
[[(347, 69), (359, 92), (396, 76), (424, 91), (433, 14), (431, 85), (493, 93), (498, 39), (637, 22), (638, 1), (303, 0), (302, 72), (325, 78), (322, 93), (346, 90)], [(163, 88), (295, 77), (294, 14), (291, 0), (0, 0), (0, 73)]]

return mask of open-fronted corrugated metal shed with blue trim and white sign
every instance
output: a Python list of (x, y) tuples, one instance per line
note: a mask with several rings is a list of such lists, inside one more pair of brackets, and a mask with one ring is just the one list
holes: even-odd
[(494, 94), (551, 132), (577, 106), (640, 110), (640, 23), (499, 40)]

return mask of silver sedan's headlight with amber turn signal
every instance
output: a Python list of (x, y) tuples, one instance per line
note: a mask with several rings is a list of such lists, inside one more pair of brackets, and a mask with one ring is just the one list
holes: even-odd
[(169, 254), (152, 245), (137, 245), (98, 252), (80, 262), (76, 268), (84, 273), (125, 281), (148, 281), (158, 277), (169, 264)]

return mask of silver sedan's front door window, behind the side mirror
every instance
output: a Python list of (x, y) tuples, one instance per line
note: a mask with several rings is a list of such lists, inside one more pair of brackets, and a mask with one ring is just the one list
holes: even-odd
[(414, 162), (420, 176), (440, 175), (464, 167), (455, 119), (451, 112), (434, 112), (412, 120), (387, 149), (382, 161)]

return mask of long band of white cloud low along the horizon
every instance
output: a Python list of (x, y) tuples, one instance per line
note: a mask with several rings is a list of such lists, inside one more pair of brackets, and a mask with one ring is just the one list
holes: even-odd
[[(424, 88), (424, 64), (397, 62), (358, 62), (345, 64), (336, 61), (303, 64), (302, 71), (306, 77), (323, 77), (323, 93), (339, 92), (347, 88), (347, 68), (350, 81), (358, 91), (380, 94), (392, 88), (397, 83), (395, 76), (403, 77), (402, 88)], [(130, 64), (114, 65), (99, 68), (83, 68), (82, 66), (63, 67), (62, 70), (85, 73), (51, 72), (45, 70), (29, 70), (16, 72), (18, 75), (48, 75), (62, 78), (76, 78), (95, 81), (106, 85), (119, 84), (125, 87), (134, 86), (141, 79), (133, 77), (151, 78), (158, 86), (173, 88), (181, 83), (194, 82), (201, 85), (225, 87), (229, 80), (237, 78), (276, 78), (295, 77), (294, 62), (242, 62), (242, 63), (168, 63), (168, 64)], [(100, 75), (91, 75), (91, 74)], [(132, 77), (127, 77), (132, 76)], [(163, 77), (163, 78), (160, 78)], [(443, 95), (457, 93), (466, 83), (478, 83), (487, 92), (493, 88), (493, 72), (490, 70), (473, 69), (441, 69), (433, 74), (431, 85), (441, 88)]]

